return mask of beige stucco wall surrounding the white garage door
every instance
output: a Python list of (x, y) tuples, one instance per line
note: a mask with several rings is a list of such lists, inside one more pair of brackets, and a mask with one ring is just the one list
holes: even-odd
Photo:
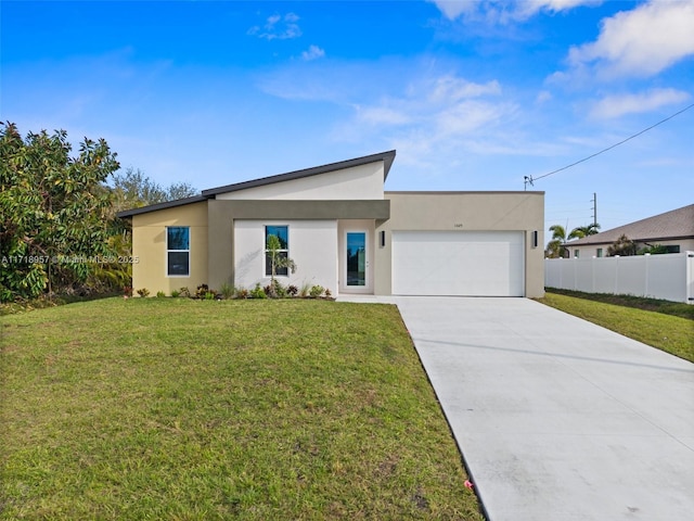
[[(525, 296), (544, 294), (544, 192), (385, 192), (390, 219), (376, 221), (384, 246), (374, 252), (376, 294), (390, 294), (391, 232), (417, 230), (498, 230), (525, 234)], [(532, 234), (538, 232), (538, 245)]]

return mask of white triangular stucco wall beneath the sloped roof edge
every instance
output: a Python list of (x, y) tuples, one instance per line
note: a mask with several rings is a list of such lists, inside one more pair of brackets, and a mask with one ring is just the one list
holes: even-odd
[(383, 199), (383, 162), (217, 194), (217, 200)]

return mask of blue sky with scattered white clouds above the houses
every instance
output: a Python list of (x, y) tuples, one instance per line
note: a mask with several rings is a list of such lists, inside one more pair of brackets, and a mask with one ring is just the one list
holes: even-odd
[[(396, 149), (387, 190), (523, 190), (694, 103), (694, 0), (7, 1), (0, 118), (198, 190)], [(694, 109), (538, 179), (547, 226), (694, 202)], [(547, 228), (547, 227), (545, 227)]]

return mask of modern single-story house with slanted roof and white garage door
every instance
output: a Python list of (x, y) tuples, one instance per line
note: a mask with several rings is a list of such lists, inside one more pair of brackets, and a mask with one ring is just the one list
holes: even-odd
[(170, 294), (270, 281), (333, 295), (544, 294), (544, 192), (385, 192), (396, 152), (290, 171), (118, 214), (132, 219), (133, 288)]

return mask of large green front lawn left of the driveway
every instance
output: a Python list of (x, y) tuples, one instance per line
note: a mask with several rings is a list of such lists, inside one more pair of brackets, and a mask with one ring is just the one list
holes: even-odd
[(483, 519), (394, 306), (3, 316), (0, 519)]

